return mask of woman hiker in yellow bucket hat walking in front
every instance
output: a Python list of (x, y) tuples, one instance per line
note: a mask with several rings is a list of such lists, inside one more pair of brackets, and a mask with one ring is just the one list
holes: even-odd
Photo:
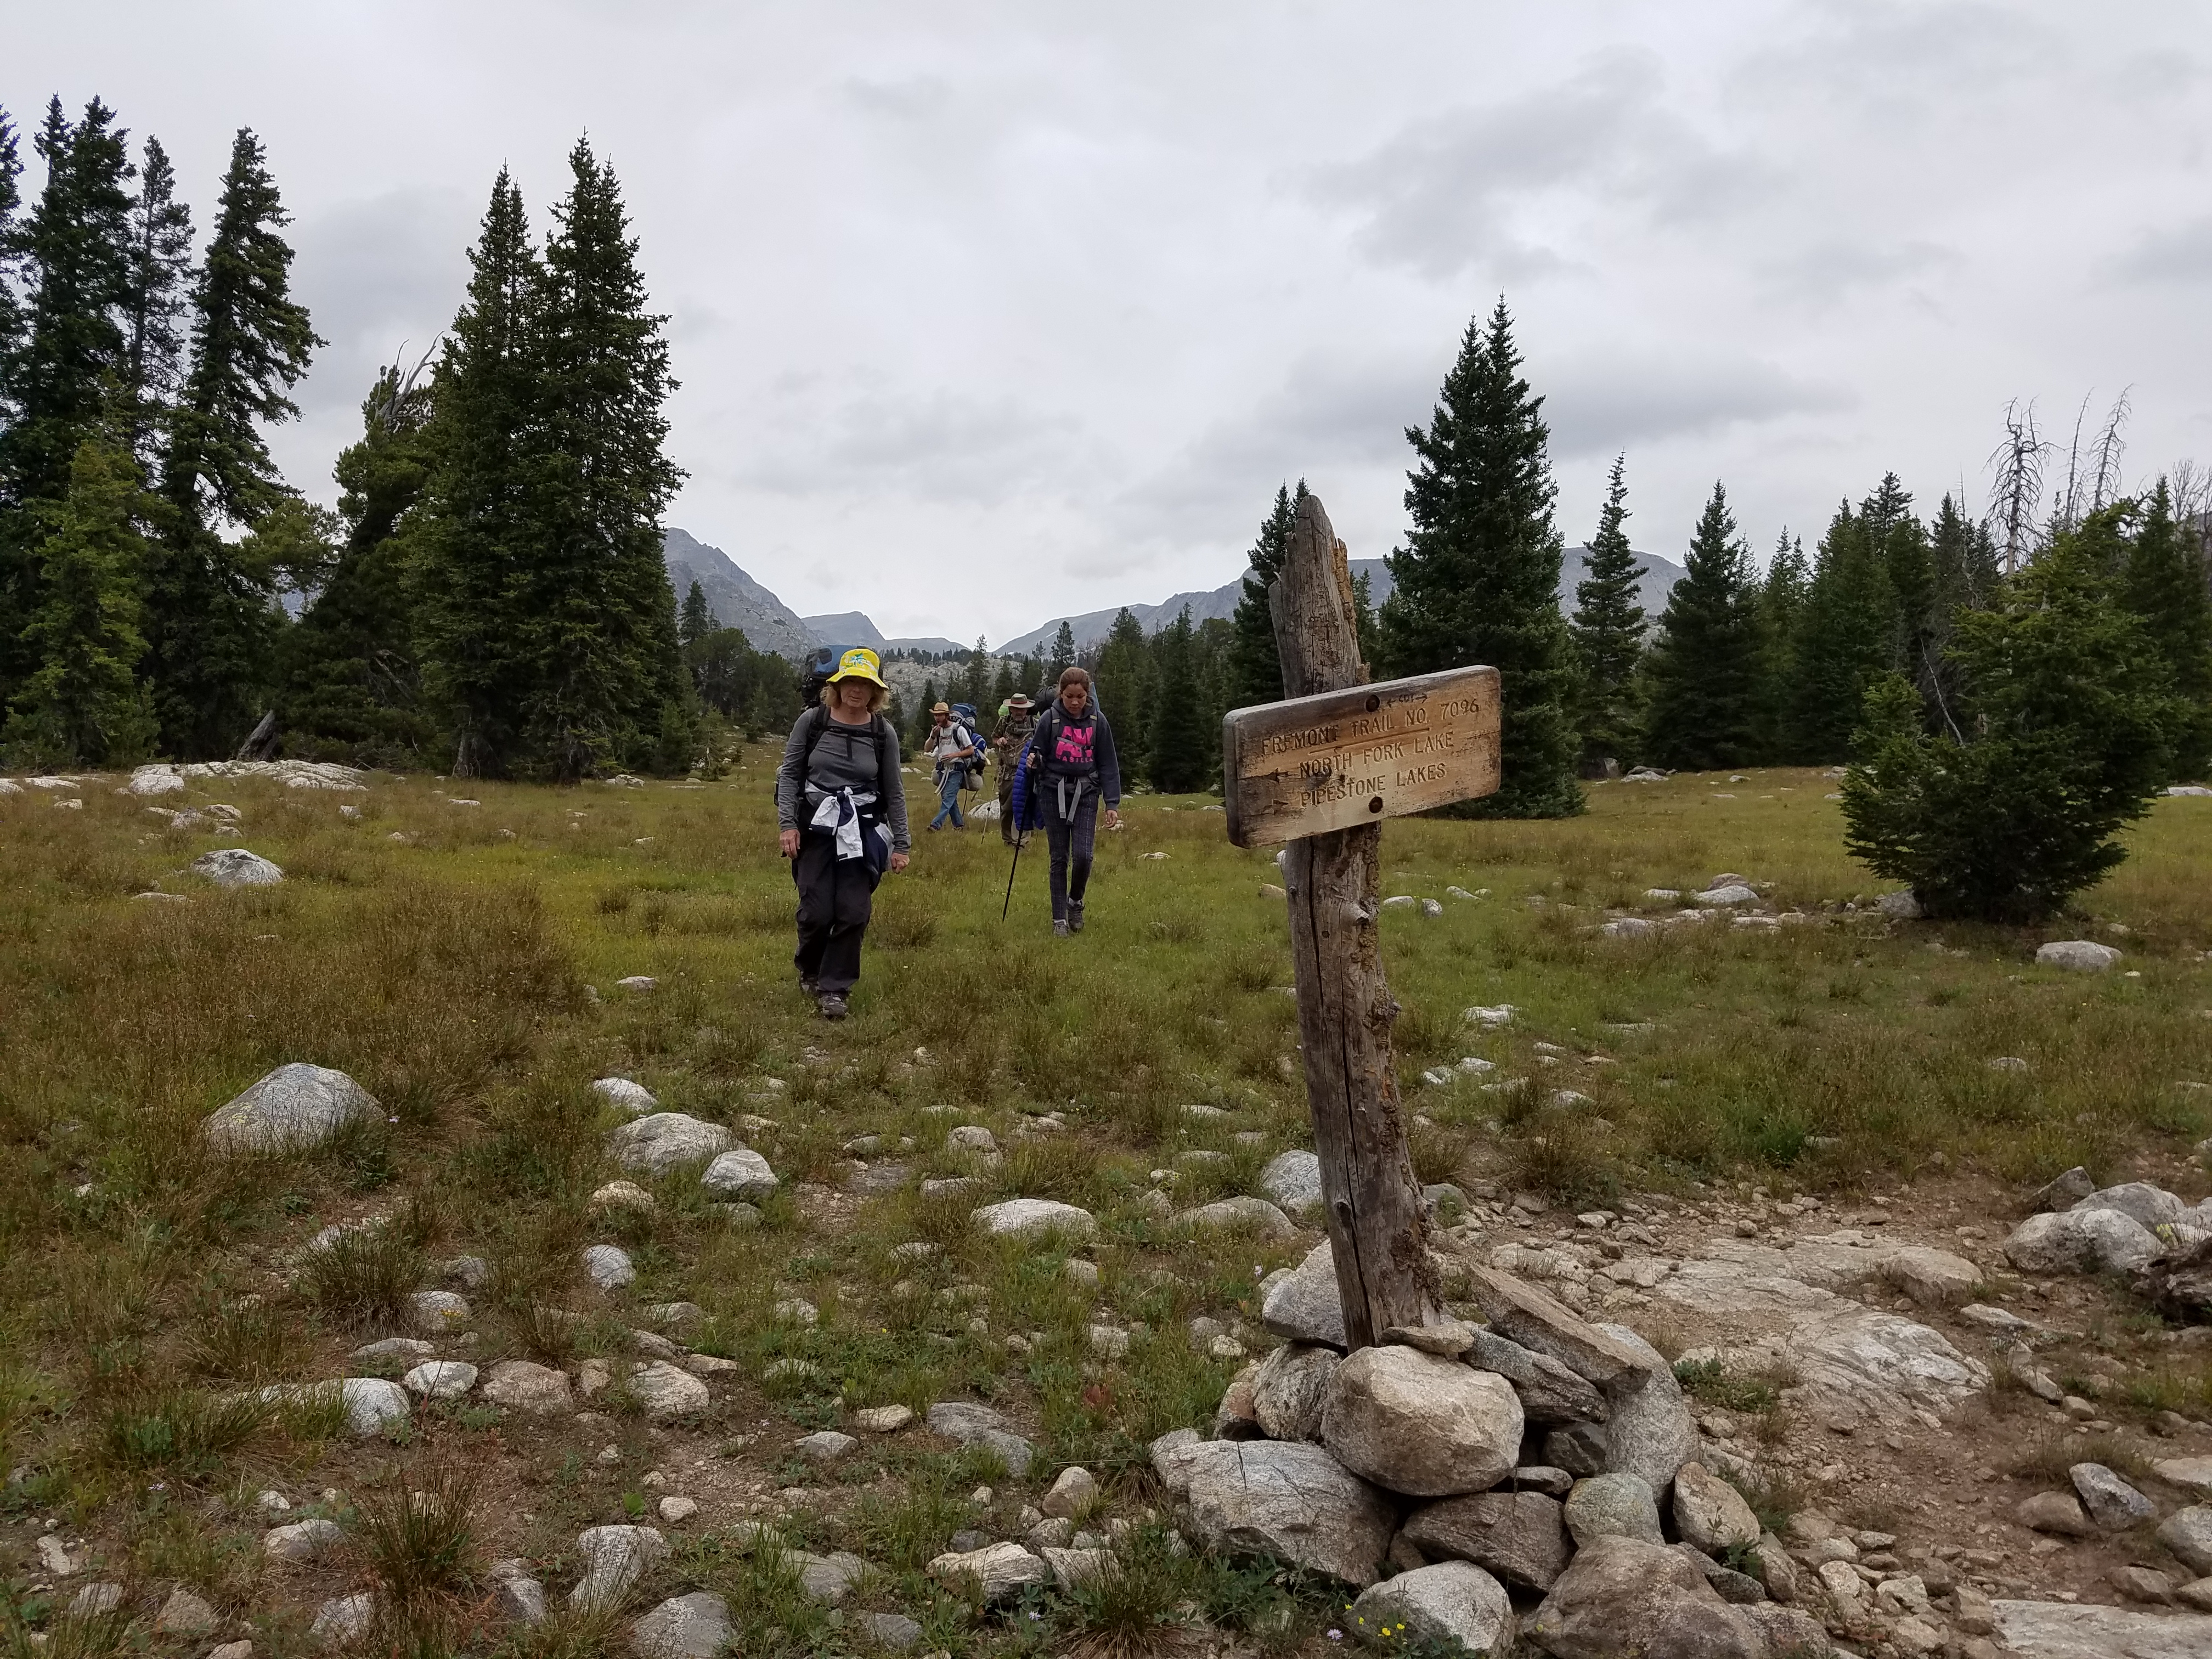
[(878, 710), (891, 688), (874, 650), (838, 657), (821, 706), (792, 728), (776, 770), (776, 830), (799, 885), (799, 989), (825, 1020), (845, 1018), (860, 938), (885, 869), (905, 869), (907, 794), (898, 732)]

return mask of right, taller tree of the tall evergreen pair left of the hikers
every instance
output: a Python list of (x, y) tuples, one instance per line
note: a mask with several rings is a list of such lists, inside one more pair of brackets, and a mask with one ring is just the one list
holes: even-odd
[(568, 170), (544, 259), (533, 555), (511, 619), (524, 737), (562, 783), (602, 761), (672, 770), (675, 748), (688, 752), (688, 737), (668, 730), (684, 706), (661, 562), (661, 511), (684, 478), (666, 453), (668, 319), (646, 310), (615, 170), (584, 139)]

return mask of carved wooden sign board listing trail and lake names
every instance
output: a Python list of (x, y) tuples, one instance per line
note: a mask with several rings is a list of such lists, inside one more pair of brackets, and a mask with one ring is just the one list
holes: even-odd
[(1447, 668), (1230, 710), (1221, 770), (1239, 847), (1493, 794), (1498, 670)]

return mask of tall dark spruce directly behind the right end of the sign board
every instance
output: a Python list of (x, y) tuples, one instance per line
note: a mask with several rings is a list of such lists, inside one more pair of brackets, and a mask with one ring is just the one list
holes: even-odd
[(1409, 427), (1407, 542), (1389, 555), (1380, 657), (1389, 675), (1489, 664), (1504, 679), (1498, 794), (1464, 812), (1582, 812), (1568, 714), (1573, 650), (1559, 615), (1559, 531), (1544, 400), (1520, 378), (1504, 301), (1467, 325), (1427, 429)]

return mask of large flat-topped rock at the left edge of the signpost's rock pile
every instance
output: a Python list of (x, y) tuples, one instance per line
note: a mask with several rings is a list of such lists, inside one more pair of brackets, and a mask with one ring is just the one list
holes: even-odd
[(1321, 1447), (1164, 1436), (1152, 1469), (1199, 1542), (1230, 1555), (1274, 1555), (1367, 1586), (1396, 1528), (1389, 1498)]

